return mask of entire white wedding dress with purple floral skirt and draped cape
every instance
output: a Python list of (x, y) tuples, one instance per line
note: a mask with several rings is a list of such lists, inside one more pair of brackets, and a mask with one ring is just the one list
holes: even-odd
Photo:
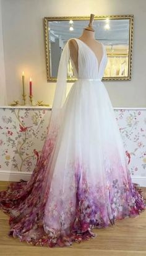
[(1, 209), (10, 215), (9, 235), (33, 245), (66, 246), (95, 238), (93, 228), (138, 216), (146, 207), (140, 187), (132, 183), (101, 81), (108, 60), (105, 45), (99, 64), (93, 50), (75, 39), (79, 71), (72, 65), (78, 79), (66, 97), (69, 40), (59, 62), (48, 133), (37, 165), (29, 181), (11, 182), (0, 192)]

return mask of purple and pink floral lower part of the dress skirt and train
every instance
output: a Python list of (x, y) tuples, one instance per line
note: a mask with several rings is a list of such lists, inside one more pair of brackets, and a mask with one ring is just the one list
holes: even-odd
[(28, 244), (63, 247), (96, 237), (93, 228), (138, 216), (146, 208), (146, 199), (137, 184), (132, 183), (130, 174), (127, 172), (126, 178), (124, 169), (119, 167), (123, 179), (113, 179), (112, 174), (104, 186), (100, 182), (94, 185), (87, 177), (90, 169), (76, 160), (67, 169), (66, 181), (72, 178), (72, 182), (66, 190), (71, 189), (71, 194), (62, 191), (61, 183), (57, 187), (58, 197), (53, 186), (55, 177), (51, 187), (45, 186), (45, 159), (41, 158), (30, 181), (13, 182), (7, 191), (0, 192), (1, 209), (11, 216), (9, 235)]

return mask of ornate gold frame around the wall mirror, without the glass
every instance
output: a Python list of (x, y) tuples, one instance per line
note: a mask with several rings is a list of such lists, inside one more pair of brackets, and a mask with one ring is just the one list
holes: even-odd
[[(129, 65), (127, 77), (103, 77), (103, 80), (131, 80), (132, 70), (132, 42), (133, 42), (133, 29), (134, 29), (134, 15), (111, 15), (111, 16), (95, 16), (94, 19), (129, 19)], [(66, 17), (45, 17), (45, 53), (46, 53), (46, 77), (47, 82), (56, 82), (56, 77), (50, 77), (49, 69), (49, 47), (48, 47), (48, 21), (69, 21), (69, 20), (86, 20), (90, 19), (90, 16), (66, 16)], [(67, 82), (75, 82), (75, 78), (67, 78)]]

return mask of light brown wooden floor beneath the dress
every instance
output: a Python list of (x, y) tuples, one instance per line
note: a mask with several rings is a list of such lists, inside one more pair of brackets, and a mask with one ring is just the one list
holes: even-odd
[[(0, 181), (0, 190), (7, 187), (6, 181)], [(146, 197), (146, 187), (142, 187)], [(146, 256), (146, 210), (138, 217), (116, 220), (114, 226), (106, 229), (93, 229), (98, 234), (95, 239), (70, 247), (41, 247), (18, 238), (9, 237), (9, 216), (0, 210), (0, 255), (17, 256)]]

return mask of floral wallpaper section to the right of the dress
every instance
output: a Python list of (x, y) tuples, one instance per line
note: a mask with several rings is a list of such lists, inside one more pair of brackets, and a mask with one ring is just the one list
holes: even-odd
[(134, 176), (146, 176), (146, 109), (114, 110)]

